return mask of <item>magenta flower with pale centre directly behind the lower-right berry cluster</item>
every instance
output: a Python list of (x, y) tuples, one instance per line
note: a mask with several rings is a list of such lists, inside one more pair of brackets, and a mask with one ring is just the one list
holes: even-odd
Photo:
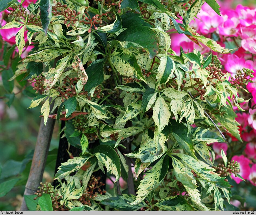
[[(248, 158), (244, 157), (244, 155), (235, 155), (232, 160), (237, 161), (240, 164), (240, 171), (238, 172), (239, 175), (241, 175), (245, 180), (248, 179), (249, 174), (250, 174), (250, 166), (249, 163), (251, 162)], [(235, 175), (232, 173), (231, 178), (239, 184), (242, 179), (239, 177), (235, 177)]]

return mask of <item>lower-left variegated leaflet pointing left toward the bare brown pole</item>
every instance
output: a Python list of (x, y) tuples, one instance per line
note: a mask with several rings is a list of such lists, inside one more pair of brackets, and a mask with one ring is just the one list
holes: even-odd
[(58, 168), (55, 175), (55, 179), (63, 179), (68, 176), (71, 172), (79, 170), (90, 157), (74, 157), (69, 159), (67, 162), (62, 163)]

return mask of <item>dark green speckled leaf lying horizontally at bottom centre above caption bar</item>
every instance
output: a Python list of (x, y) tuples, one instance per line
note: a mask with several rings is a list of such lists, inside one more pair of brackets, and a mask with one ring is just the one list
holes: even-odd
[(128, 210), (135, 211), (135, 210), (139, 210), (142, 207), (147, 207), (144, 201), (136, 205), (130, 205), (129, 203), (127, 203), (127, 202), (133, 202), (135, 201), (135, 199), (136, 199), (136, 196), (133, 196), (132, 194), (130, 195), (123, 194), (122, 196), (104, 199), (100, 203), (110, 208), (114, 208), (117, 210), (126, 210), (126, 211)]

